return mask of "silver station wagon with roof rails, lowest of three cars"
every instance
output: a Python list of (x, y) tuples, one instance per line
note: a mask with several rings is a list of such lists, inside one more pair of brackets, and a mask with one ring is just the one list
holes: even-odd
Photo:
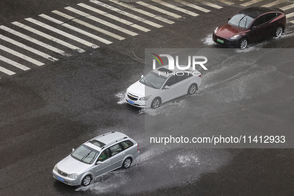
[(95, 137), (54, 166), (53, 177), (67, 185), (88, 186), (94, 178), (117, 168), (129, 168), (140, 154), (139, 145), (120, 132)]

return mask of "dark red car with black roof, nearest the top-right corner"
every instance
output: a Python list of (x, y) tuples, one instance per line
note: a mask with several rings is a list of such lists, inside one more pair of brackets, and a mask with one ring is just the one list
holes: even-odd
[(227, 46), (245, 49), (267, 37), (280, 37), (286, 27), (286, 15), (282, 9), (250, 7), (236, 13), (228, 22), (217, 27), (212, 39)]

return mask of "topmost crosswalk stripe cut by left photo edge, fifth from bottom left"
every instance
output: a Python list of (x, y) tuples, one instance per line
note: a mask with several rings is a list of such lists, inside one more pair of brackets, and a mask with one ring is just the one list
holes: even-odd
[(26, 40), (28, 40), (30, 42), (33, 42), (33, 43), (35, 43), (35, 44), (37, 44), (39, 46), (42, 46), (42, 47), (47, 48), (49, 50), (52, 50), (53, 52), (59, 53), (59, 54), (61, 54), (63, 56), (66, 56), (66, 57), (72, 56), (71, 54), (68, 54), (68, 53), (66, 53), (66, 52), (64, 52), (64, 51), (62, 51), (62, 50), (60, 50), (58, 48), (55, 48), (55, 47), (50, 46), (48, 44), (45, 44), (45, 43), (43, 43), (43, 42), (41, 42), (39, 40), (36, 40), (36, 39), (34, 39), (34, 38), (30, 37), (30, 36), (27, 36), (25, 34), (22, 34), (22, 33), (18, 32), (18, 31), (15, 31), (15, 30), (13, 30), (11, 28), (8, 28), (6, 26), (1, 25), (0, 26), (0, 29), (3, 29), (3, 30), (5, 30), (5, 31), (7, 31), (9, 33), (12, 33), (12, 34), (14, 34), (16, 36), (19, 36), (19, 37), (21, 37), (23, 39), (26, 39)]

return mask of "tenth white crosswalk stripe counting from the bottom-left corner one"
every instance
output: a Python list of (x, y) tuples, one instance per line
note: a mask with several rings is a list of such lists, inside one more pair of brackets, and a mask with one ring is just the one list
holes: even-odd
[(122, 28), (122, 27), (120, 27), (120, 26), (117, 26), (117, 25), (115, 25), (115, 24), (111, 24), (110, 22), (107, 22), (107, 21), (105, 21), (105, 20), (102, 20), (102, 19), (100, 19), (100, 18), (98, 18), (98, 17), (95, 17), (95, 16), (92, 16), (92, 15), (89, 15), (88, 13), (85, 13), (85, 12), (80, 11), (80, 10), (78, 10), (78, 9), (75, 9), (75, 8), (72, 8), (72, 7), (65, 7), (65, 9), (68, 9), (68, 10), (70, 10), (70, 11), (72, 11), (72, 12), (75, 12), (75, 13), (77, 13), (77, 14), (80, 14), (80, 15), (82, 15), (82, 16), (85, 16), (86, 18), (89, 18), (89, 19), (91, 19), (91, 20), (94, 20), (94, 21), (96, 21), (96, 22), (99, 22), (99, 23), (101, 23), (101, 24), (104, 24), (104, 25), (106, 25), (106, 26), (109, 26), (109, 27), (111, 27), (111, 28), (114, 28), (114, 29), (116, 29), (116, 30), (118, 30), (118, 31), (121, 31), (121, 32), (123, 32), (123, 33), (129, 34), (129, 35), (132, 35), (132, 36), (138, 35), (138, 33), (134, 33), (134, 32), (132, 32), (132, 31), (130, 31), (130, 30), (127, 30), (127, 29)]

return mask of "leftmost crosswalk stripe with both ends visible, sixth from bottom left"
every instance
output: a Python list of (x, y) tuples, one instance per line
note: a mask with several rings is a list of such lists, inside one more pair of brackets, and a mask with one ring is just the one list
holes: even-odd
[(19, 23), (19, 22), (11, 22), (11, 23), (14, 24), (14, 25), (16, 25), (16, 26), (19, 26), (19, 27), (21, 27), (21, 28), (24, 28), (24, 29), (26, 29), (26, 30), (28, 30), (28, 31), (30, 31), (30, 32), (32, 32), (32, 33), (35, 33), (35, 34), (40, 35), (40, 36), (42, 36), (42, 37), (45, 37), (45, 38), (47, 38), (47, 39), (49, 39), (49, 40), (51, 40), (51, 41), (54, 41), (54, 42), (59, 43), (59, 44), (61, 44), (61, 45), (63, 45), (63, 46), (66, 46), (66, 47), (68, 47), (68, 48), (70, 48), (70, 49), (76, 50), (76, 51), (78, 51), (78, 52), (80, 52), (80, 53), (82, 53), (82, 52), (86, 52), (86, 50), (83, 50), (83, 49), (81, 49), (81, 48), (79, 48), (79, 47), (76, 47), (76, 46), (70, 44), (70, 43), (67, 43), (67, 42), (62, 41), (62, 40), (60, 40), (60, 39), (57, 39), (57, 38), (55, 38), (55, 37), (53, 37), (53, 36), (51, 36), (51, 35), (48, 35), (48, 34), (46, 34), (46, 33), (43, 33), (43, 32), (41, 32), (41, 31), (39, 31), (39, 30), (37, 30), (37, 29), (31, 28), (31, 27), (29, 27), (29, 26), (27, 26), (27, 25), (21, 24), (21, 23)]

